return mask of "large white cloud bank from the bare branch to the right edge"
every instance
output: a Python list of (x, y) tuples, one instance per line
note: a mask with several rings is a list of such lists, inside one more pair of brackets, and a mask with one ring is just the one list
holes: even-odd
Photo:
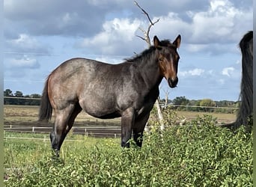
[(160, 21), (152, 31), (167, 38), (181, 34), (183, 43), (190, 44), (188, 50), (197, 52), (210, 44), (238, 43), (246, 31), (252, 30), (252, 13), (252, 8), (241, 10), (228, 0), (211, 0), (207, 10), (187, 11), (189, 19), (182, 19), (179, 13), (173, 12), (154, 17)]

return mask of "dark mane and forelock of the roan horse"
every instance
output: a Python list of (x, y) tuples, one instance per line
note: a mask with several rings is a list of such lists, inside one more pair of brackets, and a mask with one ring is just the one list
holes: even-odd
[[(170, 40), (162, 40), (160, 42), (160, 46), (163, 47), (171, 47), (174, 48), (174, 44), (170, 42)], [(154, 52), (156, 48), (154, 46), (150, 46), (150, 48), (145, 49), (140, 54), (137, 54), (133, 56), (132, 58), (125, 58), (125, 62), (135, 62), (135, 61), (141, 61), (141, 58), (144, 58), (144, 61), (150, 60), (152, 58), (152, 52)]]

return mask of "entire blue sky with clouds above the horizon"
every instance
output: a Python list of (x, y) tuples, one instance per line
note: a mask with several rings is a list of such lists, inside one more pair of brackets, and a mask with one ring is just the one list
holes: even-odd
[[(150, 38), (182, 41), (177, 88), (163, 79), (160, 96), (234, 100), (240, 93), (238, 43), (252, 30), (252, 0), (138, 0), (155, 21)], [(84, 57), (112, 64), (147, 44), (136, 35), (148, 21), (127, 0), (4, 1), (4, 90), (42, 93), (63, 61)]]

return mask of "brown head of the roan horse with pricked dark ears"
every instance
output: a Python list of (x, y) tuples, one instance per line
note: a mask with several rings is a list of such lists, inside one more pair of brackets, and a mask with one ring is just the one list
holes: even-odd
[(178, 82), (177, 67), (180, 56), (177, 53), (177, 48), (180, 46), (180, 41), (180, 34), (173, 43), (170, 43), (168, 40), (159, 41), (156, 36), (153, 37), (153, 45), (158, 51), (157, 59), (160, 73), (165, 77), (171, 88), (175, 88)]

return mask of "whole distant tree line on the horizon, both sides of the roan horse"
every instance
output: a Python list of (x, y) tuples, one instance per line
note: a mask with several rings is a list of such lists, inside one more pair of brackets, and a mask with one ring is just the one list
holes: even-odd
[[(23, 96), (22, 91), (16, 91), (13, 93), (10, 89), (4, 91), (4, 105), (40, 105), (41, 95), (33, 93)], [(175, 99), (160, 100), (160, 104), (163, 107), (174, 108), (180, 111), (207, 111), (217, 113), (237, 113), (237, 107), (239, 102), (222, 100), (213, 101), (212, 99), (186, 99), (186, 96), (177, 96)]]

